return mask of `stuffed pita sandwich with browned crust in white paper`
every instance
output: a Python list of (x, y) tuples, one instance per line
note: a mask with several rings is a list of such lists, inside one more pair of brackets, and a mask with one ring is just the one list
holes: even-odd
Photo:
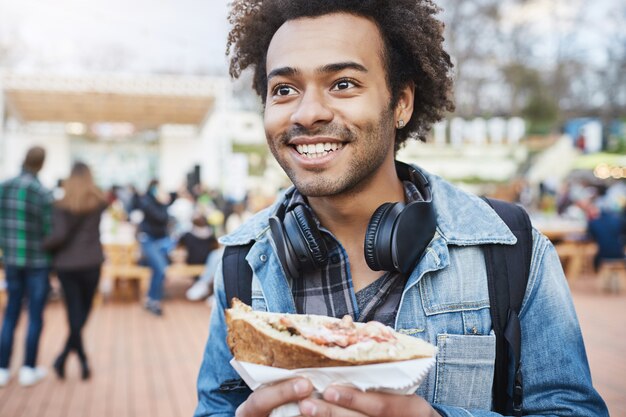
[(284, 369), (369, 365), (429, 358), (437, 348), (379, 322), (253, 311), (236, 298), (226, 310), (236, 360)]

